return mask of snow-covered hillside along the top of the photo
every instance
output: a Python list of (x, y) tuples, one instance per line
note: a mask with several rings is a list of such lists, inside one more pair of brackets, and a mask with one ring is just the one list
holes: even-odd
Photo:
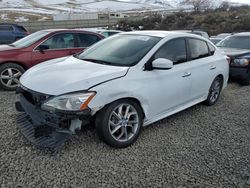
[[(181, 0), (0, 0), (0, 19), (32, 21), (52, 19), (59, 13), (176, 9)], [(214, 0), (215, 1), (215, 0)], [(221, 2), (217, 0), (215, 2)]]

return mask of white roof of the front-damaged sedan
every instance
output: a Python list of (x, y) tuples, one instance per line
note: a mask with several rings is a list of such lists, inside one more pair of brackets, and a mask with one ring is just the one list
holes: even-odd
[(192, 33), (185, 33), (183, 31), (161, 31), (161, 30), (145, 30), (145, 31), (130, 31), (130, 32), (124, 32), (120, 35), (126, 35), (126, 34), (133, 34), (133, 35), (146, 35), (146, 36), (152, 36), (152, 37), (160, 37), (165, 38), (168, 36), (179, 36), (179, 37), (195, 37), (200, 39), (205, 39), (202, 36), (198, 36)]

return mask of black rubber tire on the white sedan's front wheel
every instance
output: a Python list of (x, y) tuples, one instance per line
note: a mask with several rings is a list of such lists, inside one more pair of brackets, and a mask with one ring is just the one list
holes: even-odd
[[(118, 141), (117, 139), (114, 138), (114, 134), (112, 135), (112, 131), (110, 130), (110, 119), (112, 118), (112, 114), (113, 112), (115, 112), (115, 109), (118, 109), (121, 105), (130, 105), (133, 110), (135, 110), (137, 112), (137, 120), (138, 120), (138, 124), (136, 124), (136, 131), (132, 131), (133, 128), (131, 127), (125, 127), (126, 132), (127, 132), (127, 137), (128, 137), (128, 129), (131, 129), (131, 135), (133, 135), (130, 139), (126, 140), (126, 141)], [(126, 107), (126, 106), (125, 106)], [(123, 108), (123, 107), (122, 107)], [(131, 116), (130, 116), (131, 117)], [(129, 120), (129, 119), (128, 119)], [(115, 148), (125, 148), (130, 146), (131, 144), (133, 144), (142, 129), (142, 124), (143, 124), (143, 112), (141, 107), (134, 102), (133, 100), (129, 100), (129, 99), (121, 99), (118, 101), (115, 101), (107, 106), (105, 106), (102, 110), (100, 110), (97, 113), (96, 116), (96, 120), (95, 120), (95, 125), (96, 125), (96, 131), (97, 134), (99, 136), (99, 138), (101, 140), (103, 140), (106, 144), (115, 147)], [(131, 124), (132, 125), (132, 124)], [(122, 126), (122, 125), (121, 125)], [(120, 128), (120, 132), (122, 132), (124, 127)], [(135, 128), (135, 127), (134, 127)], [(114, 128), (115, 129), (115, 128)], [(119, 134), (119, 132), (118, 132)], [(122, 134), (122, 133), (120, 133)]]

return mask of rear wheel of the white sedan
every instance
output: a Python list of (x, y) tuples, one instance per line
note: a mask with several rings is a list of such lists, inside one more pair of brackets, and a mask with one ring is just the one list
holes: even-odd
[(223, 86), (223, 79), (217, 76), (209, 88), (208, 96), (205, 101), (206, 105), (212, 106), (218, 101), (218, 99), (220, 98), (222, 86)]

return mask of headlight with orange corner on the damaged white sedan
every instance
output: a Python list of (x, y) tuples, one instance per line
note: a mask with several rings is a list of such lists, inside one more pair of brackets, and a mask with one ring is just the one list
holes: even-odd
[(52, 98), (42, 105), (43, 110), (80, 111), (87, 108), (95, 92), (73, 93)]

